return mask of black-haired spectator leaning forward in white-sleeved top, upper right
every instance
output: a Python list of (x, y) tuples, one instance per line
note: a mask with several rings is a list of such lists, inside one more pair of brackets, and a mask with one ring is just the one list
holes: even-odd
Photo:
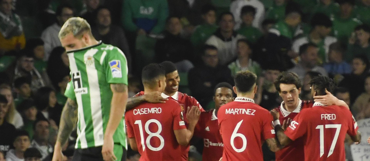
[(337, 42), (335, 37), (328, 36), (332, 30), (332, 25), (333, 23), (327, 15), (323, 13), (315, 14), (311, 20), (311, 32), (307, 36), (296, 39), (293, 42), (292, 50), (298, 53), (300, 46), (311, 42), (319, 47), (319, 63), (328, 62), (329, 46)]

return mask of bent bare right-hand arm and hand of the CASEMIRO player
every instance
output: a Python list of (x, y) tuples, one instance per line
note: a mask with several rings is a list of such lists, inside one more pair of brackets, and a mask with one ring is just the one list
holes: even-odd
[(181, 130), (174, 130), (176, 140), (180, 145), (188, 145), (191, 138), (194, 134), (194, 128), (196, 123), (198, 122), (199, 116), (201, 115), (201, 111), (198, 107), (192, 106), (191, 109), (188, 107), (188, 112), (186, 113), (186, 116), (189, 120), (189, 125), (187, 129), (181, 129)]

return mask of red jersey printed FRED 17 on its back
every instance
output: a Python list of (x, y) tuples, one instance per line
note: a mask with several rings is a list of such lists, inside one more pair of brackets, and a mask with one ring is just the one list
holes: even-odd
[(314, 103), (303, 109), (285, 131), (290, 139), (303, 138), (305, 161), (344, 161), (346, 133), (357, 134), (357, 123), (343, 106)]

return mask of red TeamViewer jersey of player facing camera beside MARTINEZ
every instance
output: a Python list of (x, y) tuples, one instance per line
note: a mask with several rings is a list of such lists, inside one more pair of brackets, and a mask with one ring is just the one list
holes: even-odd
[(218, 161), (222, 157), (223, 142), (215, 110), (201, 113), (195, 126), (194, 136), (203, 139), (202, 161)]

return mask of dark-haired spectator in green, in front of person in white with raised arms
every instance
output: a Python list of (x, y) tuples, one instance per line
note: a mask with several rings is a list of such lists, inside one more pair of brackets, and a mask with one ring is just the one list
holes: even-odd
[(252, 44), (256, 43), (257, 40), (262, 36), (262, 33), (258, 28), (252, 26), (252, 22), (256, 15), (256, 8), (252, 6), (244, 6), (240, 10), (240, 18), (242, 19), (242, 25), (237, 31), (240, 35), (246, 37), (246, 39)]

